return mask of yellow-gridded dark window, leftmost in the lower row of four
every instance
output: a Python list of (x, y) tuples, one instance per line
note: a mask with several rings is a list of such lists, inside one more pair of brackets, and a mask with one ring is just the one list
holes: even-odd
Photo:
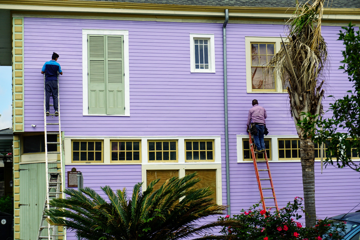
[(72, 140), (72, 162), (103, 162), (103, 141)]

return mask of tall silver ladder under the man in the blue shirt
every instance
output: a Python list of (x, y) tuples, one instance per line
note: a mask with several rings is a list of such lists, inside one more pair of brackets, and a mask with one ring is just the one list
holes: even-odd
[[(50, 218), (45, 214), (46, 209), (57, 209), (49, 205), (49, 200), (54, 198), (63, 198), (63, 158), (62, 158), (62, 137), (61, 137), (61, 125), (60, 125), (60, 95), (59, 95), (59, 76), (58, 76), (58, 112), (59, 115), (56, 116), (54, 113), (49, 114), (51, 118), (55, 119), (58, 117), (57, 123), (47, 123), (46, 122), (46, 109), (45, 109), (45, 73), (44, 73), (44, 133), (45, 133), (45, 170), (46, 170), (46, 198), (44, 202), (44, 208), (42, 210), (42, 216), (40, 221), (39, 233), (37, 235), (37, 240), (57, 240), (65, 239), (66, 232), (64, 228), (59, 228), (58, 226), (50, 225), (46, 218)], [(53, 104), (50, 104), (53, 106)], [(48, 132), (46, 130), (47, 125), (59, 125), (59, 131), (57, 132)], [(56, 142), (48, 142), (48, 135), (57, 135), (58, 140)], [(48, 151), (48, 144), (57, 144), (57, 151)], [(57, 160), (48, 159), (48, 154), (58, 154)], [(49, 168), (49, 163), (56, 163), (56, 167)]]

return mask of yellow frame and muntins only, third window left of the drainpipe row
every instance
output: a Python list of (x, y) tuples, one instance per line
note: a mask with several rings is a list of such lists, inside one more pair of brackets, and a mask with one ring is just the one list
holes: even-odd
[[(150, 142), (155, 142), (154, 144), (154, 150), (150, 150)], [(162, 150), (156, 150), (157, 149), (157, 142), (161, 142), (161, 149)], [(169, 142), (169, 150), (163, 150), (164, 148), (164, 142)], [(175, 148), (176, 150), (170, 150), (171, 146), (170, 146), (170, 142), (175, 142)], [(164, 153), (166, 155), (166, 152), (169, 153), (169, 160), (163, 160), (164, 158)], [(175, 156), (176, 156), (176, 159), (175, 160), (170, 160), (171, 159), (171, 153), (175, 152)], [(166, 162), (166, 163), (177, 163), (179, 162), (179, 156), (178, 156), (178, 152), (179, 152), (179, 147), (178, 147), (178, 142), (177, 142), (177, 139), (172, 139), (172, 140), (148, 140), (148, 162), (149, 163), (157, 163), (157, 162)], [(154, 153), (154, 160), (150, 160), (152, 159), (152, 156)], [(158, 154), (161, 153), (161, 160), (156, 160), (157, 159), (157, 156)]]

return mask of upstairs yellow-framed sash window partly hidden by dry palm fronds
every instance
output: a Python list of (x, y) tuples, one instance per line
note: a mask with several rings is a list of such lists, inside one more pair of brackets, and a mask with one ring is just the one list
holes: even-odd
[(275, 43), (251, 42), (251, 82), (253, 90), (275, 91), (274, 66), (266, 70), (266, 63), (275, 55)]

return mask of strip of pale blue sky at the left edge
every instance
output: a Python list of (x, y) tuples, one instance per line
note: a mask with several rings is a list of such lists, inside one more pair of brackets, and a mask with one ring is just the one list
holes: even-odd
[(0, 130), (12, 125), (12, 70), (0, 66)]

